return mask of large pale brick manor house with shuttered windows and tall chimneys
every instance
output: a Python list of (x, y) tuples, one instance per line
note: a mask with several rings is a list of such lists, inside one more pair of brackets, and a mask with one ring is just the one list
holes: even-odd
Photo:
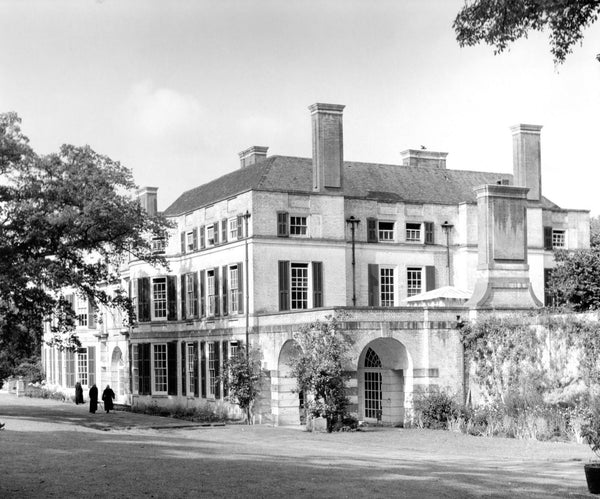
[[(130, 261), (116, 284), (137, 323), (74, 296), (82, 348), (44, 347), (48, 383), (111, 384), (134, 406), (226, 406), (221, 368), (248, 341), (263, 356), (258, 421), (298, 424), (292, 334), (336, 315), (359, 419), (403, 424), (420, 391), (464, 394), (462, 321), (543, 306), (553, 250), (588, 247), (589, 214), (542, 195), (541, 126), (511, 128), (512, 173), (448, 169), (427, 149), (360, 163), (344, 159), (343, 109), (310, 106), (312, 157), (253, 146), (181, 194), (164, 212), (175, 228), (154, 241), (168, 272)], [(155, 213), (157, 188), (139, 195)]]

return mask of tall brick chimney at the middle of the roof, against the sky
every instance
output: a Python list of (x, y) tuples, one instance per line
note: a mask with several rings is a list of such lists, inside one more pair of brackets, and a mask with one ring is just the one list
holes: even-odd
[(342, 112), (345, 106), (310, 106), (313, 132), (313, 190), (340, 189), (343, 184), (344, 133)]

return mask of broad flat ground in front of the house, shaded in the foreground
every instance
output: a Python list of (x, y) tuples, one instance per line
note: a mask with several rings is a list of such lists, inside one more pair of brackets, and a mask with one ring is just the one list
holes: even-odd
[(583, 445), (190, 426), (0, 392), (0, 497), (593, 497)]

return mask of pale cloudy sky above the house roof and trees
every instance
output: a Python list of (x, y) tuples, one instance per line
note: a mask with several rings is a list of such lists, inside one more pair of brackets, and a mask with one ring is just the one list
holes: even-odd
[(239, 168), (310, 157), (308, 106), (345, 104), (348, 161), (446, 151), (512, 172), (509, 127), (543, 125), (542, 189), (600, 214), (600, 23), (555, 68), (547, 36), (459, 48), (463, 0), (0, 0), (0, 111), (39, 153), (89, 144), (159, 187), (159, 209)]

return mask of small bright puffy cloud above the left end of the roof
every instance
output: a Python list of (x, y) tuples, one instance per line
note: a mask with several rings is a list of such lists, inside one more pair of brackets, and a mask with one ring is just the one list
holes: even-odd
[(195, 97), (169, 88), (155, 88), (150, 81), (132, 87), (126, 111), (138, 131), (151, 137), (198, 136), (204, 114)]

